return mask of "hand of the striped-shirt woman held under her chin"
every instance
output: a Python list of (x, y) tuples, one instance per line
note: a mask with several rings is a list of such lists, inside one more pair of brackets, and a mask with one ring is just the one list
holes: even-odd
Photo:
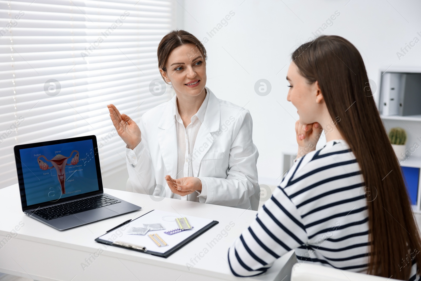
[(310, 151), (316, 150), (316, 144), (322, 134), (322, 130), (322, 126), (317, 122), (301, 124), (300, 120), (298, 120), (295, 123), (296, 139), (298, 143), (297, 158), (306, 155)]

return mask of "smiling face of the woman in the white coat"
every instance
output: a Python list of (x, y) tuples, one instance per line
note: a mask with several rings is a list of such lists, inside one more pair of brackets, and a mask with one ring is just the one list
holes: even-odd
[(180, 45), (171, 51), (165, 67), (160, 69), (165, 81), (171, 82), (177, 96), (198, 96), (204, 94), (206, 85), (206, 64), (203, 55), (193, 44)]

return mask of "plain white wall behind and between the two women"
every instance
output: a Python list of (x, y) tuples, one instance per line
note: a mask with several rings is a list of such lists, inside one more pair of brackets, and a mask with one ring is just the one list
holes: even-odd
[[(296, 149), (296, 109), (286, 100), (285, 76), (290, 54), (319, 27), (353, 43), (364, 59), (368, 77), (379, 86), (380, 68), (420, 67), (421, 42), (398, 59), (397, 52), (414, 37), (421, 40), (418, 0), (184, 0), (178, 28), (203, 41), (208, 51), (207, 86), (220, 99), (245, 106), (253, 117), (253, 141), (259, 151), (261, 184), (280, 181), (281, 153)], [(179, 5), (180, 5), (179, 4)], [(230, 11), (226, 26), (218, 24)], [(331, 26), (325, 21), (338, 11)], [(214, 27), (220, 27), (210, 37)], [(417, 34), (420, 32), (420, 34)], [(205, 43), (205, 37), (208, 42)], [(403, 53), (402, 53), (403, 54)], [(267, 96), (254, 91), (257, 80), (272, 84)], [(379, 87), (378, 87), (379, 88)], [(375, 95), (378, 100), (378, 91)]]

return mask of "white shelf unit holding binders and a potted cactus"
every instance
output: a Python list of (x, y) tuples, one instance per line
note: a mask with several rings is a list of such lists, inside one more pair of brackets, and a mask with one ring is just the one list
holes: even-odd
[[(386, 73), (413, 73), (413, 74), (420, 74), (421, 75), (421, 68), (405, 68), (405, 67), (389, 67), (387, 69), (381, 69), (379, 72), (379, 80), (380, 81), (380, 94), (378, 95), (378, 110), (380, 112), (380, 117), (383, 121), (384, 127), (386, 131), (389, 133), (389, 130), (393, 127), (401, 127), (405, 129), (407, 133), (407, 141), (406, 141), (406, 153), (405, 159), (400, 161), (400, 165), (402, 167), (410, 167), (418, 169), (418, 191), (417, 191), (417, 204), (413, 205), (413, 211), (416, 213), (421, 213), (421, 114), (415, 115), (399, 115), (399, 110), (393, 108), (392, 105), (387, 107), (388, 113), (392, 113), (389, 115), (384, 114), (383, 110), (386, 108), (387, 102), (384, 97), (388, 97), (389, 93), (386, 92), (388, 86), (387, 83), (384, 83), (384, 79), (386, 78)], [(387, 79), (387, 78), (386, 78)], [(421, 81), (420, 81), (421, 83)], [(392, 83), (391, 83), (392, 84)], [(400, 86), (398, 84), (398, 86)], [(393, 85), (391, 85), (393, 87)], [(401, 100), (400, 94), (402, 94), (402, 86), (399, 89), (396, 89), (396, 95), (390, 94), (390, 98), (397, 98), (397, 100)], [(414, 90), (414, 89), (412, 89)], [(416, 89), (417, 96), (421, 100), (421, 87)], [(392, 104), (392, 101), (391, 101)], [(397, 104), (398, 107), (402, 107), (402, 104)], [(402, 110), (400, 110), (402, 113)]]

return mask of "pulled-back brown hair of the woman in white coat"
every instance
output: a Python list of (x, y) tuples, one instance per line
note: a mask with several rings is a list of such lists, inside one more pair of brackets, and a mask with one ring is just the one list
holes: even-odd
[[(158, 67), (167, 72), (166, 65), (171, 52), (175, 48), (185, 44), (195, 45), (196, 50), (199, 51), (200, 54), (202, 54), (203, 59), (207, 59), (205, 47), (200, 42), (200, 40), (195, 37), (195, 35), (192, 35), (191, 33), (185, 30), (172, 30), (162, 38), (161, 42), (158, 45)], [(165, 81), (165, 83), (167, 83), (167, 81)]]

